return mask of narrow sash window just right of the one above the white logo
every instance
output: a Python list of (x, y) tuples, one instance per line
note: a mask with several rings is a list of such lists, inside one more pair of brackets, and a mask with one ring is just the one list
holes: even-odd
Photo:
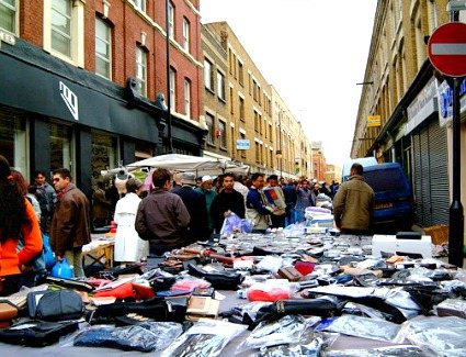
[(99, 18), (95, 18), (95, 74), (112, 77), (112, 30)]

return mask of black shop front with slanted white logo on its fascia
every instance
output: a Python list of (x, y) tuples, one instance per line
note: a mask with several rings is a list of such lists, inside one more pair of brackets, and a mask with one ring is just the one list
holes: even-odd
[[(101, 170), (168, 152), (167, 112), (21, 38), (0, 48), (0, 153), (31, 179), (66, 167), (89, 197)], [(205, 131), (172, 114), (173, 152), (202, 155)]]

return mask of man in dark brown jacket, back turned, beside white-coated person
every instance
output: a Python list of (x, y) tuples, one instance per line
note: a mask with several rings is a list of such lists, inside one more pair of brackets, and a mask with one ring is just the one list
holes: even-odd
[(190, 223), (190, 213), (181, 198), (169, 192), (169, 170), (154, 170), (152, 182), (155, 189), (139, 203), (135, 228), (143, 239), (149, 241), (150, 255), (160, 256), (187, 245), (182, 231)]

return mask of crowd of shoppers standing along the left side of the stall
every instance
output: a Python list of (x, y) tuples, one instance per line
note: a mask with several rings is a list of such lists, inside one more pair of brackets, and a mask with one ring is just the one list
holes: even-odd
[(128, 264), (219, 234), (232, 214), (247, 219), (255, 233), (302, 222), (307, 207), (318, 205), (322, 197), (331, 202), (339, 187), (260, 172), (195, 177), (157, 168), (149, 191), (134, 177), (120, 180), (111, 192), (99, 181), (89, 201), (68, 169), (54, 170), (52, 181), (38, 170), (27, 185), (0, 156), (1, 295), (46, 276), (48, 236), (55, 258), (66, 259), (75, 277), (83, 277), (82, 246), (91, 242), (92, 228), (111, 220), (117, 224), (114, 258)]

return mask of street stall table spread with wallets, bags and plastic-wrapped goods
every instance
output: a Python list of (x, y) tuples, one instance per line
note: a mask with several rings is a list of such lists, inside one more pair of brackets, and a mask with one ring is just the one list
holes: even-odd
[[(113, 268), (112, 281), (88, 278), (78, 288), (81, 330), (41, 355), (62, 348), (69, 356), (466, 353), (465, 271), (431, 258), (432, 250), (397, 254), (425, 237), (305, 232), (237, 234), (173, 250), (158, 266), (125, 267), (121, 276)], [(377, 239), (383, 249), (374, 249)], [(38, 352), (2, 341), (0, 350)]]

